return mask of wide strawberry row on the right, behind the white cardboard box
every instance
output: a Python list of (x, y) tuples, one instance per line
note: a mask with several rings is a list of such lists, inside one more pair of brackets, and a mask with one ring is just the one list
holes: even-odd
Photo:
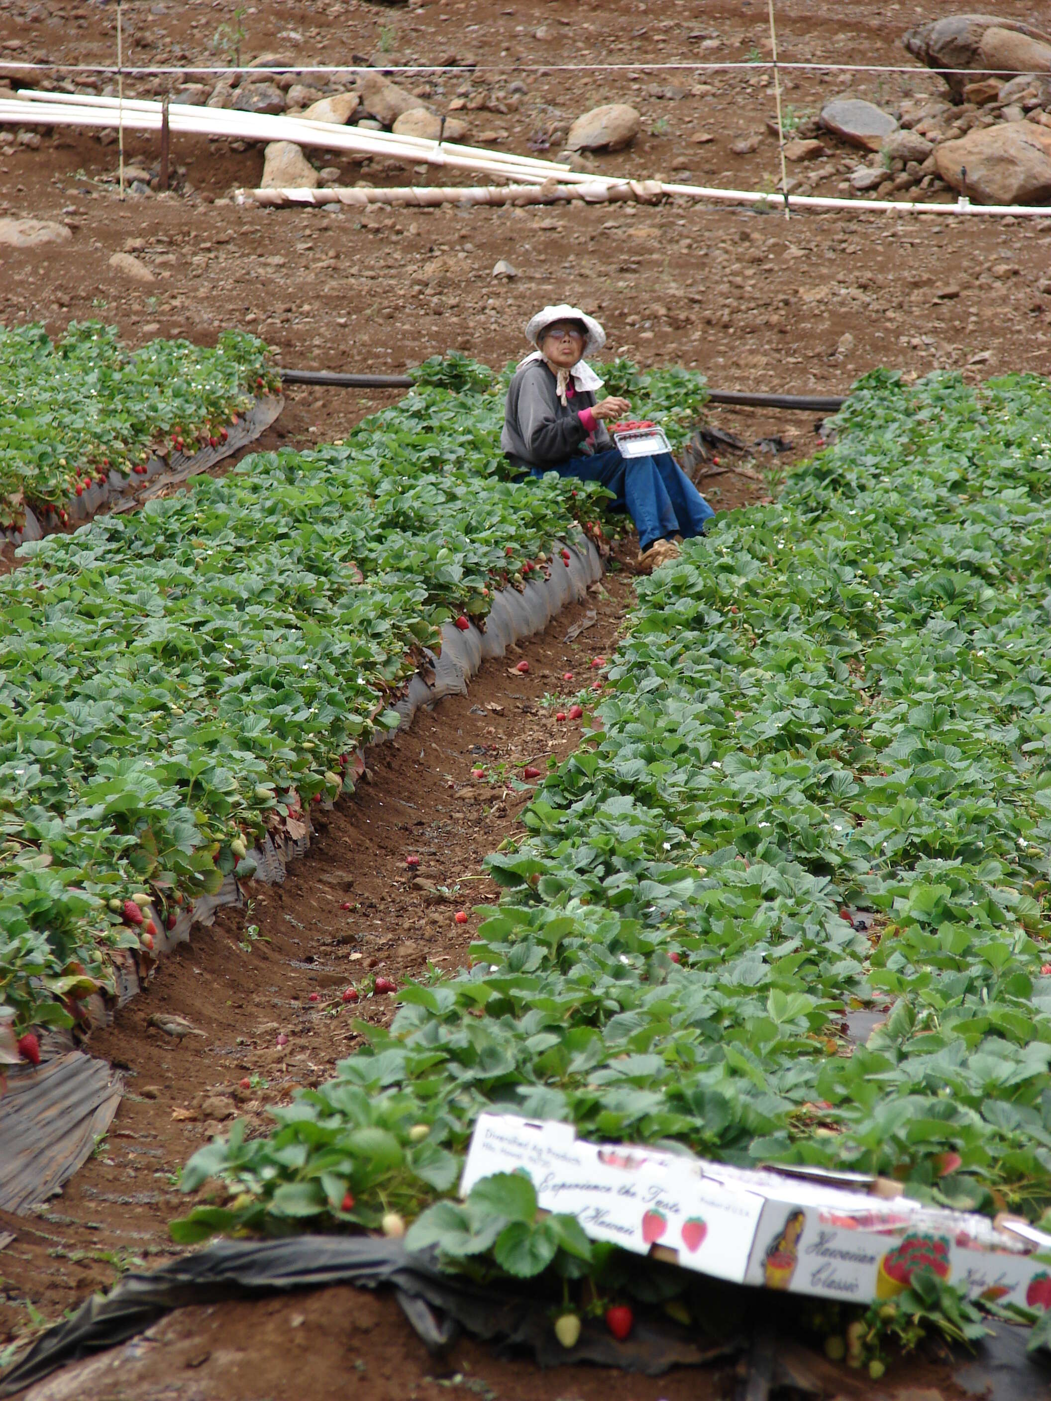
[[(269, 1138), (202, 1149), (184, 1188), (230, 1196), (177, 1238), (397, 1231), (490, 1107), (1038, 1217), (1050, 486), (1045, 381), (862, 381), (778, 504), (640, 581), (603, 730), (490, 859), (472, 965), (404, 988)], [(855, 1044), (860, 1009), (886, 1020)], [(409, 1243), (587, 1268), (497, 1208), (439, 1202)]]

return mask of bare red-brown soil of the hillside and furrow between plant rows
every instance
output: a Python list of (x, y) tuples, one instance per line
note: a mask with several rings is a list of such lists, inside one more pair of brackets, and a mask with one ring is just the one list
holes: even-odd
[[(112, 62), (114, 8), (10, 0), (0, 11), (0, 56)], [(998, 8), (1040, 22), (1020, 0)], [(132, 63), (219, 62), (212, 35), (220, 22), (233, 22), (233, 6), (192, 0), (123, 10)], [(874, 11), (842, 0), (830, 10), (779, 0), (781, 55), (907, 66), (900, 34), (928, 17), (904, 4)], [(485, 94), (486, 108), (465, 113), (468, 139), (497, 150), (528, 153), (530, 139), (542, 132), (558, 154), (556, 133), (565, 134), (573, 116), (624, 99), (640, 108), (643, 134), (632, 150), (596, 158), (604, 172), (736, 188), (769, 186), (779, 174), (769, 134), (753, 154), (730, 150), (737, 136), (765, 132), (774, 112), (761, 74), (659, 67), (741, 60), (754, 49), (765, 55), (760, 0), (584, 0), (570, 7), (446, 0), (411, 8), (258, 0), (244, 25), (249, 59), (265, 52), (301, 64), (349, 64), (356, 55), (390, 64), (472, 59), (479, 64), (474, 77), (446, 74), (444, 91), (432, 99), (446, 109), (461, 91), (468, 99)], [(547, 38), (535, 36), (541, 28)], [(559, 67), (600, 62), (632, 67), (605, 76)], [(526, 92), (510, 94), (511, 81), (524, 83)], [(129, 81), (129, 91), (167, 84)], [(671, 88), (685, 95), (668, 95)], [(939, 91), (940, 83), (921, 70), (793, 73), (785, 101), (806, 115), (846, 90), (893, 101)], [(509, 111), (495, 111), (500, 105)], [(712, 140), (691, 139), (702, 133)], [(154, 140), (130, 136), (128, 156), (156, 164)], [(259, 150), (179, 137), (174, 158), (182, 171), (175, 192), (121, 202), (112, 181), (115, 146), (83, 132), (56, 132), (36, 150), (0, 147), (0, 216), (64, 220), (73, 230), (60, 247), (0, 249), (0, 321), (38, 319), (57, 333), (73, 318), (95, 317), (116, 322), (132, 343), (177, 333), (209, 342), (226, 326), (244, 326), (265, 336), (286, 366), (391, 373), (450, 349), (500, 366), (524, 349), (521, 326), (538, 305), (569, 300), (604, 321), (612, 353), (643, 366), (695, 366), (719, 388), (837, 394), (874, 366), (914, 375), (959, 368), (968, 378), (1047, 370), (1048, 293), (1041, 283), (1051, 226), (1044, 223), (933, 214), (786, 221), (680, 202), (472, 213), (265, 212), (231, 202), (233, 189), (258, 184)], [(348, 184), (441, 179), (440, 172), (385, 161), (336, 164)], [(844, 149), (827, 163), (827, 174), (807, 179), (816, 191), (835, 193), (853, 164)], [(128, 283), (109, 268), (109, 256), (125, 248), (150, 266), (154, 283)], [(517, 269), (514, 280), (490, 276), (499, 258)], [(291, 388), (284, 415), (258, 446), (342, 437), (391, 401)], [(716, 509), (767, 495), (776, 471), (816, 441), (813, 415), (716, 409), (710, 417), (748, 441), (772, 433), (796, 441), (790, 457), (758, 457), (753, 475), (708, 478), (702, 485)], [(171, 1257), (167, 1223), (185, 1208), (172, 1174), (219, 1126), (203, 1101), (233, 1098), (238, 1114), (262, 1131), (268, 1104), (331, 1075), (356, 1042), (350, 1017), (318, 1010), (331, 992), (362, 971), (383, 969), (398, 981), (419, 976), (427, 962), (458, 965), (476, 920), (472, 915), (457, 929), (453, 912), (496, 898), (482, 860), (516, 831), (521, 807), (499, 785), (472, 782), (469, 769), (569, 752), (579, 727), (558, 726), (541, 698), (559, 689), (565, 670), (580, 674), (594, 653), (611, 649), (629, 595), (624, 573), (608, 576), (589, 600), (597, 621), (577, 642), (562, 639), (583, 608), (569, 609), (523, 646), (533, 663), (528, 677), (511, 679), (500, 663), (488, 664), (468, 696), (418, 716), (374, 755), (371, 783), (322, 818), (314, 849), (290, 867), (283, 887), (252, 888), (251, 909), (226, 911), (213, 929), (195, 930), (150, 989), (92, 1038), (92, 1054), (125, 1069), (128, 1094), (95, 1157), (62, 1196), (31, 1217), (0, 1222), (17, 1236), (0, 1255), (0, 1338), (27, 1337), (35, 1317), (57, 1318), (129, 1265), (149, 1268)], [(418, 876), (436, 890), (413, 887), (405, 869), (411, 852), (422, 857)], [(249, 926), (258, 926), (258, 937)], [(322, 1002), (310, 1003), (311, 992)], [(147, 1026), (150, 1013), (161, 1010), (189, 1017), (205, 1037), (167, 1040)], [(357, 1014), (378, 1020), (391, 1010), (376, 999)], [(290, 1037), (282, 1052), (277, 1030)], [(251, 1090), (240, 1089), (242, 1077), (255, 1077)], [(834, 1376), (830, 1394), (853, 1395), (860, 1387), (855, 1374)], [(936, 1384), (946, 1398), (957, 1395), (946, 1376), (926, 1363), (902, 1363), (867, 1394)], [(338, 1289), (175, 1314), (146, 1344), (122, 1349), (114, 1370), (77, 1376), (48, 1395), (249, 1401), (353, 1388), (367, 1401), (437, 1401), (460, 1393), (671, 1401), (730, 1395), (733, 1386), (729, 1373), (716, 1370), (661, 1381), (600, 1369), (542, 1374), (471, 1342), (436, 1363), (392, 1299)]]

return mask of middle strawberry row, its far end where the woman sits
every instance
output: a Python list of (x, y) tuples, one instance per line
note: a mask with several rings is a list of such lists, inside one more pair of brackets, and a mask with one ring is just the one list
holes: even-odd
[(149, 948), (135, 897), (174, 923), (249, 876), (245, 850), (397, 724), (441, 623), (483, 618), (600, 510), (591, 488), (507, 481), (500, 417), (495, 384), (422, 384), (339, 447), (22, 546), (0, 580), (0, 1005), (20, 1030), (111, 986), (109, 948)]

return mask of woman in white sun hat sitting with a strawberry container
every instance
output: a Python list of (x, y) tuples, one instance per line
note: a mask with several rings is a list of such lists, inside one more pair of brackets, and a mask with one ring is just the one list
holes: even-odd
[(626, 510), (639, 532), (639, 569), (675, 559), (680, 537), (701, 535), (715, 514), (670, 453), (621, 455), (605, 423), (624, 417), (626, 399), (596, 398), (603, 381), (584, 354), (601, 350), (605, 332), (576, 307), (545, 307), (526, 328), (537, 349), (507, 389), (500, 446), (534, 476), (558, 472), (601, 482), (614, 510)]

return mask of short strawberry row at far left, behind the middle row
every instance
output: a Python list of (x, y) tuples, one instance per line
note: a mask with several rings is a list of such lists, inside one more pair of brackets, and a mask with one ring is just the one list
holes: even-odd
[(0, 326), (0, 530), (21, 530), (27, 504), (62, 521), (71, 496), (144, 472), (151, 453), (216, 447), (279, 389), (266, 346), (242, 332), (214, 349), (151, 340), (130, 352), (94, 321), (56, 342), (39, 325)]

